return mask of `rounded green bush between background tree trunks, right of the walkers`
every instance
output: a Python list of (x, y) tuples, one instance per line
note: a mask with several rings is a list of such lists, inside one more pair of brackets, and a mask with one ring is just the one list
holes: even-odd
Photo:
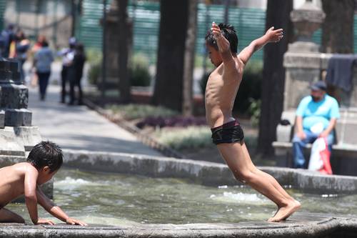
[(135, 54), (133, 56), (129, 70), (131, 86), (150, 85), (149, 59), (144, 54)]

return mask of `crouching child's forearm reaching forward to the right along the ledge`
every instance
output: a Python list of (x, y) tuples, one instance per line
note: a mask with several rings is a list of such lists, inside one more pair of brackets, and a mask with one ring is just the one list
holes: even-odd
[(44, 192), (42, 192), (39, 187), (37, 187), (36, 189), (36, 195), (41, 207), (44, 207), (47, 212), (49, 212), (52, 216), (60, 219), (62, 222), (66, 222), (66, 224), (79, 224), (81, 226), (87, 225), (85, 222), (81, 222), (79, 220), (69, 217), (60, 207), (56, 206), (54, 202), (52, 202), (48, 197), (46, 197)]

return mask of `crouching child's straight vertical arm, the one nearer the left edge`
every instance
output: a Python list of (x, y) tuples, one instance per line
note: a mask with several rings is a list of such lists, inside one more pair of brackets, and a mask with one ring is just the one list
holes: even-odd
[(54, 224), (47, 219), (40, 219), (37, 212), (36, 184), (39, 172), (34, 167), (27, 167), (24, 179), (24, 196), (31, 221), (34, 224)]

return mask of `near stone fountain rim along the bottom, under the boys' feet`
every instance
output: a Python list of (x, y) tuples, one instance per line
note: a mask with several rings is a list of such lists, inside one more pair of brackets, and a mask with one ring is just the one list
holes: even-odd
[(354, 237), (357, 218), (294, 215), (288, 222), (240, 222), (238, 224), (134, 224), (89, 227), (66, 224), (0, 224), (0, 237)]

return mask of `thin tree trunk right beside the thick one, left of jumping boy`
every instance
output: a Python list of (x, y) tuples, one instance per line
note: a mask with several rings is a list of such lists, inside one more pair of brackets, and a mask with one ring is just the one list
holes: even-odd
[(183, 62), (183, 116), (193, 114), (193, 67), (197, 32), (197, 0), (188, 2), (188, 26)]

